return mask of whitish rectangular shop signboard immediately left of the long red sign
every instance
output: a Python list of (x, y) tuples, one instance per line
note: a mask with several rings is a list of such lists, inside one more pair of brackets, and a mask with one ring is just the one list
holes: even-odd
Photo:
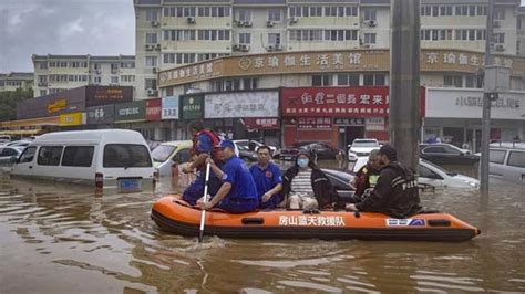
[(278, 117), (279, 92), (258, 91), (208, 94), (204, 97), (205, 118)]

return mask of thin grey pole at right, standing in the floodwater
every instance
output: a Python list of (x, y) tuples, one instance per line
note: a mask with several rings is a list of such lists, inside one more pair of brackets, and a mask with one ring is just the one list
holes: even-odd
[[(487, 66), (492, 65), (492, 52), (494, 50), (494, 0), (487, 0), (486, 34), (485, 34), (485, 76), (483, 93), (483, 117), (482, 117), (482, 144), (480, 162), (480, 191), (483, 197), (488, 196), (488, 139), (491, 137), (491, 95), (487, 85), (491, 84), (487, 75)], [(497, 96), (496, 96), (497, 97)]]

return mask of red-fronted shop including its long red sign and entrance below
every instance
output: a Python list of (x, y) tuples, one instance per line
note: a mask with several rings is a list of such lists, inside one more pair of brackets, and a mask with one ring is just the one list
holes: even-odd
[[(421, 96), (424, 109), (424, 88)], [(389, 87), (282, 88), (281, 112), (285, 146), (325, 141), (346, 148), (356, 138), (388, 140)]]

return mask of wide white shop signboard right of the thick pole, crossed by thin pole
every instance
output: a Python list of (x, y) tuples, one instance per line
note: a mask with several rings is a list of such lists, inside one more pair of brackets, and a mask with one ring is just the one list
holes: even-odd
[[(483, 90), (428, 88), (425, 117), (482, 118)], [(500, 94), (491, 118), (525, 120), (525, 92)]]

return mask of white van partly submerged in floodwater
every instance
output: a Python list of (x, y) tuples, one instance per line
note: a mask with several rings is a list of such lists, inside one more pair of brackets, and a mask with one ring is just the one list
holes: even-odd
[(20, 155), (11, 175), (94, 183), (123, 192), (142, 190), (155, 179), (146, 140), (127, 129), (44, 134)]

